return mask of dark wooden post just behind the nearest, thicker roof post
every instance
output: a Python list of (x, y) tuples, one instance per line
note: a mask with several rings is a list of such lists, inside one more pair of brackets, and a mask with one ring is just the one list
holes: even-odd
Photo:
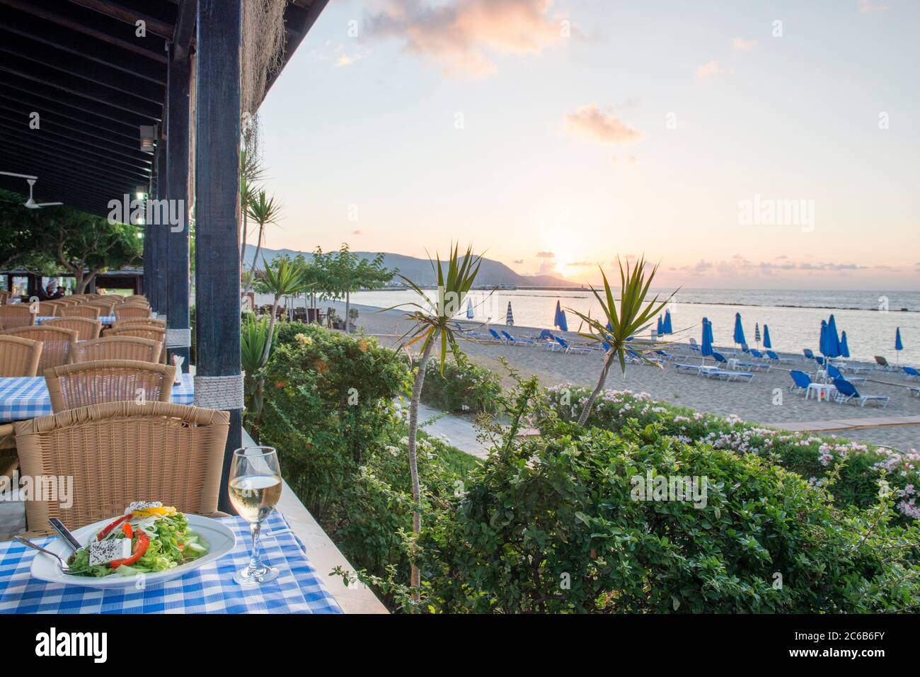
[(167, 239), (167, 348), (184, 359), (189, 371), (189, 75), (188, 53), (177, 59), (170, 53), (167, 83), (167, 198), (168, 214), (179, 215), (181, 223), (155, 226)]

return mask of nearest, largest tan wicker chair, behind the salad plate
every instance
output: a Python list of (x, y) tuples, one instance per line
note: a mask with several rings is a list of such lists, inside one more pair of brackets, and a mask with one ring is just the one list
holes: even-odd
[(17, 423), (23, 475), (74, 478), (69, 509), (58, 500), (27, 501), (29, 530), (47, 530), (52, 517), (77, 529), (137, 500), (213, 515), (229, 420), (182, 404), (117, 402)]

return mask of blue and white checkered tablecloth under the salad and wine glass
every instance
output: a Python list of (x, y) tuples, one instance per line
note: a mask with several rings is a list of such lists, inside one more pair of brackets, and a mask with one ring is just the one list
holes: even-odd
[[(249, 561), (249, 524), (239, 517), (221, 521), (236, 532), (232, 552), (143, 590), (46, 583), (29, 575), (32, 558), (46, 555), (15, 541), (0, 543), (0, 613), (342, 613), (280, 513), (262, 525), (261, 540), (263, 559), (280, 573), (255, 589), (233, 579)], [(47, 545), (52, 539), (35, 542)]]

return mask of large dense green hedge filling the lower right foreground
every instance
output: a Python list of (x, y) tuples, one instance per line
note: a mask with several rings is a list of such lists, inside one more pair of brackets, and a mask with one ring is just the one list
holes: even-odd
[[(493, 453), (424, 530), (424, 608), (470, 613), (860, 613), (920, 604), (917, 531), (834, 508), (753, 454), (571, 424)], [(638, 500), (647, 473), (705, 507)], [(634, 483), (634, 478), (638, 482)], [(431, 522), (431, 520), (430, 520)]]

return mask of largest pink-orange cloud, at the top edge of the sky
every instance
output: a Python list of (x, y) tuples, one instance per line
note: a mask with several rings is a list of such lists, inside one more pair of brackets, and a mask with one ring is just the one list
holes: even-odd
[(368, 19), (375, 37), (405, 41), (408, 52), (443, 65), (444, 74), (488, 76), (496, 54), (538, 54), (564, 41), (552, 0), (390, 0)]

